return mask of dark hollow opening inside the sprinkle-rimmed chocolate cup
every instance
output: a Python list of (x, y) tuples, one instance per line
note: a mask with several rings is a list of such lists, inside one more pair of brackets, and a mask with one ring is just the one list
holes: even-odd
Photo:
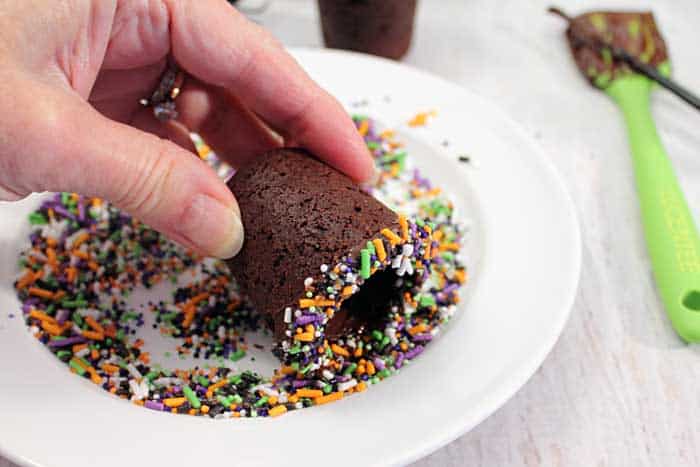
[(343, 301), (326, 326), (326, 336), (338, 338), (350, 332), (382, 328), (391, 308), (402, 306), (402, 295), (409, 282), (413, 282), (413, 277), (399, 278), (392, 268), (375, 272), (360, 290)]

